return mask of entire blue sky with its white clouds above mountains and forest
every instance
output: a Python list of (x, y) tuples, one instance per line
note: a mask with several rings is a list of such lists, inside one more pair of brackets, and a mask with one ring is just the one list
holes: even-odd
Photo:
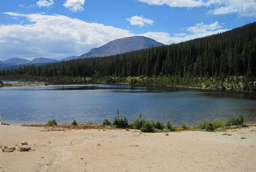
[(0, 61), (63, 59), (143, 35), (166, 45), (256, 21), (256, 0), (0, 0)]

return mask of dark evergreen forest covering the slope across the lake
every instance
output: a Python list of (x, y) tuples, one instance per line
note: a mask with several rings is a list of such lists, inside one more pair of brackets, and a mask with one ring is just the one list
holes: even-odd
[(108, 57), (0, 71), (0, 80), (93, 81), (256, 91), (256, 22)]

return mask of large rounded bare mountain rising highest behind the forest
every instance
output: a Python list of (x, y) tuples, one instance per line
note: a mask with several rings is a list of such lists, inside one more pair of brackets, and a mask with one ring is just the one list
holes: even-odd
[(82, 54), (80, 57), (84, 58), (111, 56), (115, 54), (148, 48), (152, 45), (156, 47), (158, 45), (162, 45), (162, 43), (144, 36), (125, 37), (110, 41), (99, 48), (91, 49), (91, 51)]

